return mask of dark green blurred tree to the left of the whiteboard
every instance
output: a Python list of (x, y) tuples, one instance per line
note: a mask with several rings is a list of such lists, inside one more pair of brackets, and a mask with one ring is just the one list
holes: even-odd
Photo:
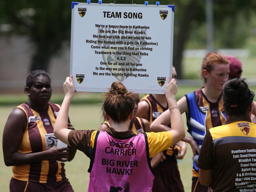
[(9, 35), (26, 35), (34, 50), (30, 70), (48, 70), (51, 57), (70, 41), (71, 1), (3, 1), (1, 23), (11, 24)]

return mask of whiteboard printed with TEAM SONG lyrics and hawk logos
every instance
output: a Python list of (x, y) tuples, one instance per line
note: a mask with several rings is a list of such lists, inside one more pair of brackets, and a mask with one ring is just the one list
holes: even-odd
[(113, 81), (163, 94), (172, 72), (174, 6), (72, 3), (70, 74), (76, 91)]

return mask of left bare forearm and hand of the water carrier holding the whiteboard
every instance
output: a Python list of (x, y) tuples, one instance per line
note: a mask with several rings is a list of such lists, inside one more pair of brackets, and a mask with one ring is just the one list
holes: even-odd
[(59, 114), (56, 118), (54, 135), (59, 140), (70, 146), (68, 141), (68, 135), (71, 130), (67, 128), (69, 119), (69, 106), (75, 91), (73, 76), (70, 76), (70, 78), (67, 77), (66, 81), (63, 83), (63, 88), (65, 92), (65, 97), (63, 99), (61, 108), (59, 109)]

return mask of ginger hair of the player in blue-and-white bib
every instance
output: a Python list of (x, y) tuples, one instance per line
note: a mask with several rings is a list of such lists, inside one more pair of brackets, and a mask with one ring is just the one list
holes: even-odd
[(203, 76), (203, 70), (205, 69), (208, 73), (213, 71), (215, 64), (229, 64), (228, 59), (225, 55), (218, 52), (209, 52), (203, 59), (201, 66), (201, 78), (206, 83), (206, 78)]

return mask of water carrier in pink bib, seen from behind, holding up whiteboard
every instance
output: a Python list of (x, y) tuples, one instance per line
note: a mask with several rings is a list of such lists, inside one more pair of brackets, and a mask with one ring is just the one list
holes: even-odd
[(185, 136), (182, 117), (173, 99), (178, 90), (175, 80), (169, 78), (165, 87), (172, 130), (138, 135), (129, 129), (134, 100), (122, 83), (112, 83), (104, 95), (104, 111), (111, 125), (105, 131), (67, 129), (69, 105), (74, 95), (73, 77), (68, 77), (63, 86), (65, 98), (56, 120), (54, 135), (69, 146), (83, 151), (91, 159), (88, 191), (114, 192), (124, 189), (150, 192), (154, 180), (150, 157)]

